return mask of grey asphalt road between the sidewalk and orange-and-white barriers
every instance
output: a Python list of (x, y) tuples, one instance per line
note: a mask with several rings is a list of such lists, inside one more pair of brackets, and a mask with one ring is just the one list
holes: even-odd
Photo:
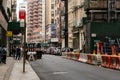
[(93, 66), (61, 56), (43, 55), (31, 61), (31, 66), (41, 80), (120, 80), (120, 71)]

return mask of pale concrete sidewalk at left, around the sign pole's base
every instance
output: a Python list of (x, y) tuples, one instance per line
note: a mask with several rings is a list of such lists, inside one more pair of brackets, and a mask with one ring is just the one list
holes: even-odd
[(0, 64), (0, 80), (40, 80), (29, 62), (26, 61), (23, 73), (23, 60), (7, 58), (7, 64)]

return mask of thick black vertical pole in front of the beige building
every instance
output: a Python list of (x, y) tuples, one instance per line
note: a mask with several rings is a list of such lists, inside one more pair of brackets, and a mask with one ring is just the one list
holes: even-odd
[(64, 0), (65, 4), (65, 47), (68, 47), (68, 0)]

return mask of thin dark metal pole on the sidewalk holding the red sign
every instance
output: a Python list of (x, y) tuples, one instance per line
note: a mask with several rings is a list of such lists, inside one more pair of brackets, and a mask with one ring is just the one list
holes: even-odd
[(24, 19), (24, 54), (23, 54), (23, 72), (25, 72), (25, 57), (26, 57), (26, 19)]

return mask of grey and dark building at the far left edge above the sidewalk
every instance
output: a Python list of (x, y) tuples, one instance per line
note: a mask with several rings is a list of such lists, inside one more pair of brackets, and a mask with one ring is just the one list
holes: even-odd
[(6, 31), (11, 18), (11, 1), (0, 0), (0, 45), (7, 44)]

